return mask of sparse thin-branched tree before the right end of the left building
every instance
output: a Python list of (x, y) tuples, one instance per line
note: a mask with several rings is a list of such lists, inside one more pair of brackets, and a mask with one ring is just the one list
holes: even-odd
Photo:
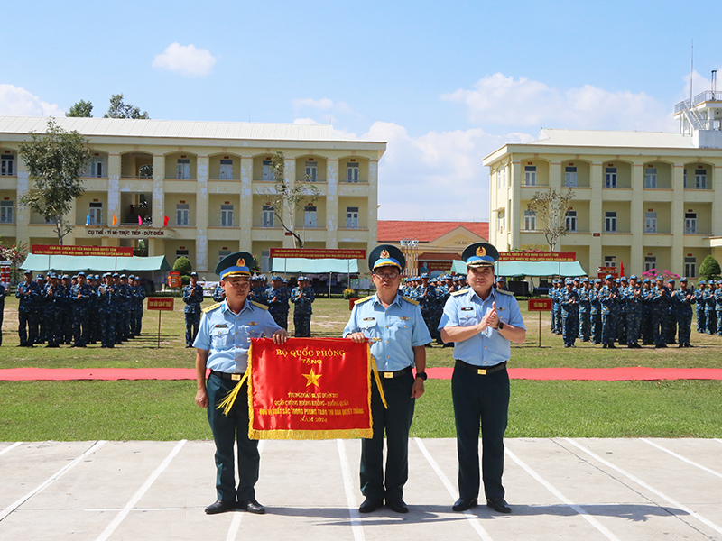
[(272, 158), (273, 188), (263, 188), (258, 193), (266, 197), (266, 201), (273, 206), (273, 215), (286, 233), (292, 234), (296, 248), (303, 248), (303, 239), (296, 233), (293, 224), (296, 211), (303, 206), (313, 205), (320, 197), (319, 188), (310, 182), (307, 176), (303, 180), (292, 183), (286, 180), (285, 160), (283, 152), (276, 151)]

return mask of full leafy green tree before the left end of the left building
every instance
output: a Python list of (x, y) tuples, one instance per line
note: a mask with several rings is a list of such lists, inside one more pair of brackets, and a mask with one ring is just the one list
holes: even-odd
[(19, 203), (54, 224), (53, 231), (62, 245), (63, 237), (73, 229), (63, 216), (85, 191), (79, 175), (93, 158), (88, 139), (75, 131), (66, 132), (51, 118), (45, 134), (30, 133), (30, 141), (20, 143), (19, 153), (35, 183)]

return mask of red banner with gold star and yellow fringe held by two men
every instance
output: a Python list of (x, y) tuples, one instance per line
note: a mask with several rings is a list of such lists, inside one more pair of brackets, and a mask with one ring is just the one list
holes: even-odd
[(345, 338), (254, 338), (248, 352), (248, 436), (371, 437), (371, 355)]

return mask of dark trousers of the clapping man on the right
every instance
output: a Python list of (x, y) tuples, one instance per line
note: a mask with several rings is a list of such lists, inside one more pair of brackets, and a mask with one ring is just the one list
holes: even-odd
[(479, 426), (481, 477), (486, 498), (503, 498), (504, 431), (509, 412), (509, 375), (506, 370), (486, 376), (462, 366), (454, 368), (451, 397), (457, 426), (458, 495), (479, 494)]

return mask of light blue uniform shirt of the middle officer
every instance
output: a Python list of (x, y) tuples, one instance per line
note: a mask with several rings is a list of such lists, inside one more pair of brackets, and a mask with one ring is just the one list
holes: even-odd
[(414, 345), (431, 342), (421, 309), (401, 295), (384, 308), (378, 295), (356, 301), (344, 327), (344, 336), (364, 333), (371, 343), (371, 355), (379, 371), (399, 371), (414, 366)]

